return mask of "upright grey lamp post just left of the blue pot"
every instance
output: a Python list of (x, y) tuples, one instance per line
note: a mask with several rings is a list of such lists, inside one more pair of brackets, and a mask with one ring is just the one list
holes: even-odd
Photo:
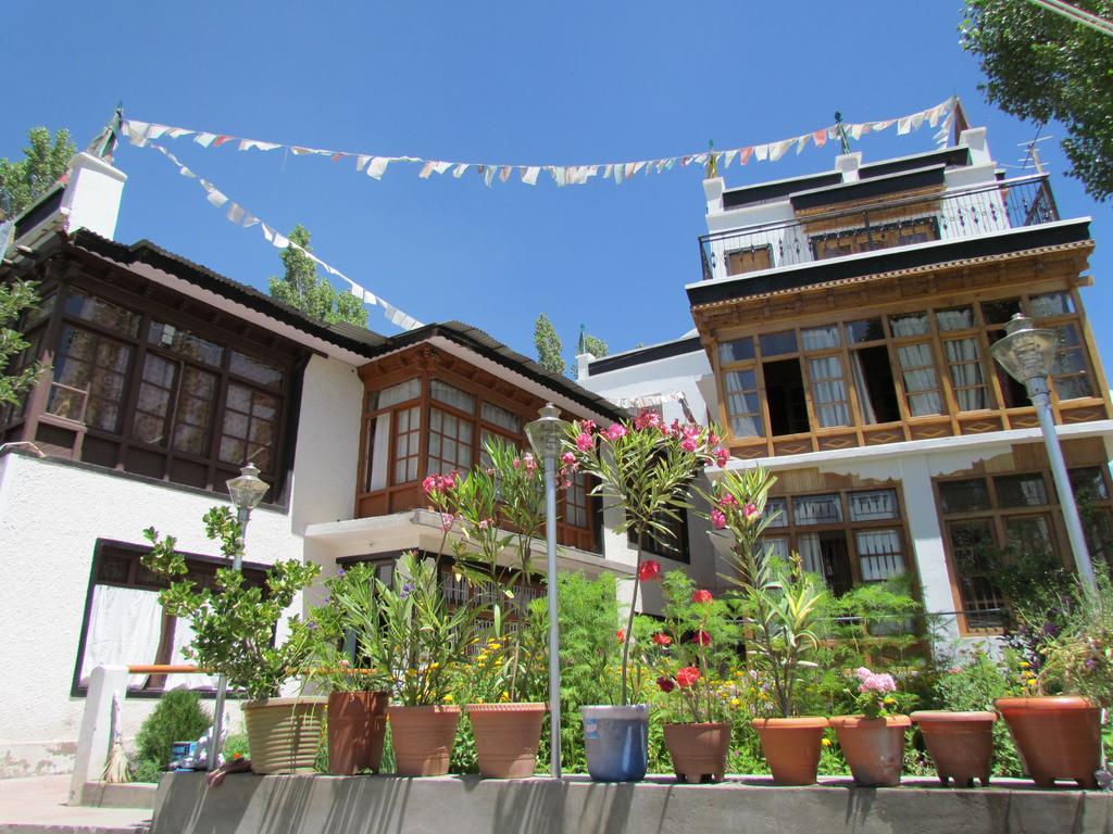
[(549, 723), (550, 774), (560, 778), (560, 624), (556, 616), (556, 457), (568, 421), (552, 403), (539, 410), (541, 418), (525, 427), (533, 454), (545, 466), (545, 552), (549, 568)]

